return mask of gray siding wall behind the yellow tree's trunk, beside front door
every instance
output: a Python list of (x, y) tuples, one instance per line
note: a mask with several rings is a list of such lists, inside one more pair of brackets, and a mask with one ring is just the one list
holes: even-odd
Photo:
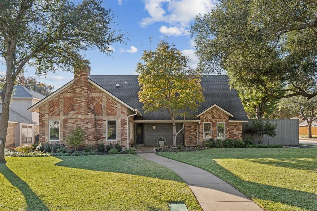
[[(155, 130), (153, 130), (155, 125)], [(180, 130), (183, 123), (176, 123), (176, 130)], [(176, 143), (183, 145), (184, 130), (178, 133)], [(173, 144), (172, 123), (145, 123), (144, 124), (144, 145), (157, 145), (159, 137), (164, 136), (167, 145)]]

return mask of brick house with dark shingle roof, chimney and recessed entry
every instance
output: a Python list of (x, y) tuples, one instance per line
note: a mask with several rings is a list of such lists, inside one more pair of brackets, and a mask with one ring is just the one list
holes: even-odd
[[(87, 62), (87, 61), (86, 61)], [(69, 131), (81, 125), (86, 143), (156, 145), (160, 136), (172, 144), (172, 124), (163, 110), (145, 113), (139, 102), (137, 75), (91, 75), (88, 63), (76, 69), (74, 80), (29, 108), (39, 112), (39, 141), (62, 143)], [(205, 102), (187, 118), (177, 144), (196, 146), (210, 138), (242, 139), (248, 121), (236, 90), (227, 75), (205, 75), (201, 85)], [(177, 119), (177, 129), (182, 127)]]

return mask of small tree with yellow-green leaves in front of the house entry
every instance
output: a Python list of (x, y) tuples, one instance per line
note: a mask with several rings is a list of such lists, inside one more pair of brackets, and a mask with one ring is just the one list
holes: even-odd
[(190, 61), (174, 45), (159, 42), (155, 51), (145, 50), (136, 67), (140, 102), (145, 112), (163, 109), (173, 125), (173, 145), (176, 146), (176, 120), (189, 117), (197, 109), (197, 102), (204, 101), (199, 75), (188, 66)]

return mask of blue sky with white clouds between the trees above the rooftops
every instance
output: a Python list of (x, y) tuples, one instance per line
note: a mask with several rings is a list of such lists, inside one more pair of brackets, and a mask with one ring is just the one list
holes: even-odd
[[(116, 30), (127, 33), (127, 44), (113, 43), (111, 56), (99, 50), (84, 52), (90, 61), (91, 74), (136, 74), (135, 67), (144, 50), (155, 50), (160, 40), (168, 37), (168, 42), (187, 55), (192, 67), (196, 67), (193, 39), (189, 33), (196, 15), (209, 12), (216, 5), (214, 0), (108, 0), (103, 2), (117, 16), (113, 21)], [(149, 38), (153, 37), (152, 42)], [(5, 74), (5, 66), (0, 65), (0, 74)], [(26, 67), (24, 75), (53, 85), (55, 90), (73, 79), (73, 73), (58, 71), (46, 76), (35, 76), (34, 69)]]

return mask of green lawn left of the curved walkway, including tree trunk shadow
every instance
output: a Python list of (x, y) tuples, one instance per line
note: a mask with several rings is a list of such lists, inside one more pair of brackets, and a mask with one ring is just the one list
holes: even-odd
[(170, 169), (136, 155), (6, 157), (0, 210), (201, 210)]

